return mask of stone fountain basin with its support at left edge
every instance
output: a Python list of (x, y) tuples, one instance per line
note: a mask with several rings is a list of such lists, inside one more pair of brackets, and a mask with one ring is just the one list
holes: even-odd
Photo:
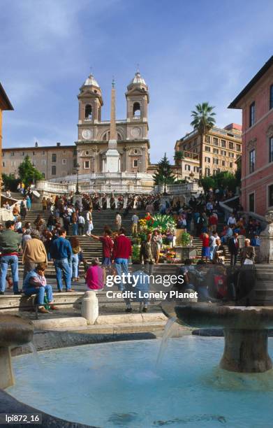
[(15, 315), (0, 315), (0, 388), (14, 385), (10, 348), (32, 341), (34, 327)]

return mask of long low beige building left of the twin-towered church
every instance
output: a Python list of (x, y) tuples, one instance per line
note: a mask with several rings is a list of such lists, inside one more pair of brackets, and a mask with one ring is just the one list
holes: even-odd
[(2, 172), (18, 175), (18, 166), (24, 158), (29, 156), (32, 164), (38, 169), (45, 180), (60, 178), (73, 174), (77, 167), (77, 150), (75, 145), (38, 146), (26, 148), (3, 148), (2, 150)]

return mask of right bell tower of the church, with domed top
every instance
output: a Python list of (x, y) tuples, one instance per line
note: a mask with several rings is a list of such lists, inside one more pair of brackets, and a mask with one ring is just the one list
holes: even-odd
[(130, 122), (137, 125), (136, 129), (142, 130), (141, 137), (147, 138), (149, 92), (139, 71), (135, 73), (135, 77), (127, 86), (125, 96), (127, 101), (127, 123)]

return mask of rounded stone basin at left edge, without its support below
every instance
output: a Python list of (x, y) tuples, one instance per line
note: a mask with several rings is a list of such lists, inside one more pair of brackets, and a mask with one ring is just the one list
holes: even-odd
[(34, 325), (15, 315), (0, 316), (0, 347), (21, 346), (32, 341)]

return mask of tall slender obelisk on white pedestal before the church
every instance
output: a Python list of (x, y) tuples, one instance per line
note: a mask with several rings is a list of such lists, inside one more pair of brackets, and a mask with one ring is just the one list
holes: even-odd
[(115, 81), (112, 80), (111, 91), (111, 120), (110, 120), (110, 140), (108, 141), (108, 150), (105, 154), (106, 173), (119, 172), (119, 152), (117, 151), (117, 127), (116, 127), (116, 90)]

